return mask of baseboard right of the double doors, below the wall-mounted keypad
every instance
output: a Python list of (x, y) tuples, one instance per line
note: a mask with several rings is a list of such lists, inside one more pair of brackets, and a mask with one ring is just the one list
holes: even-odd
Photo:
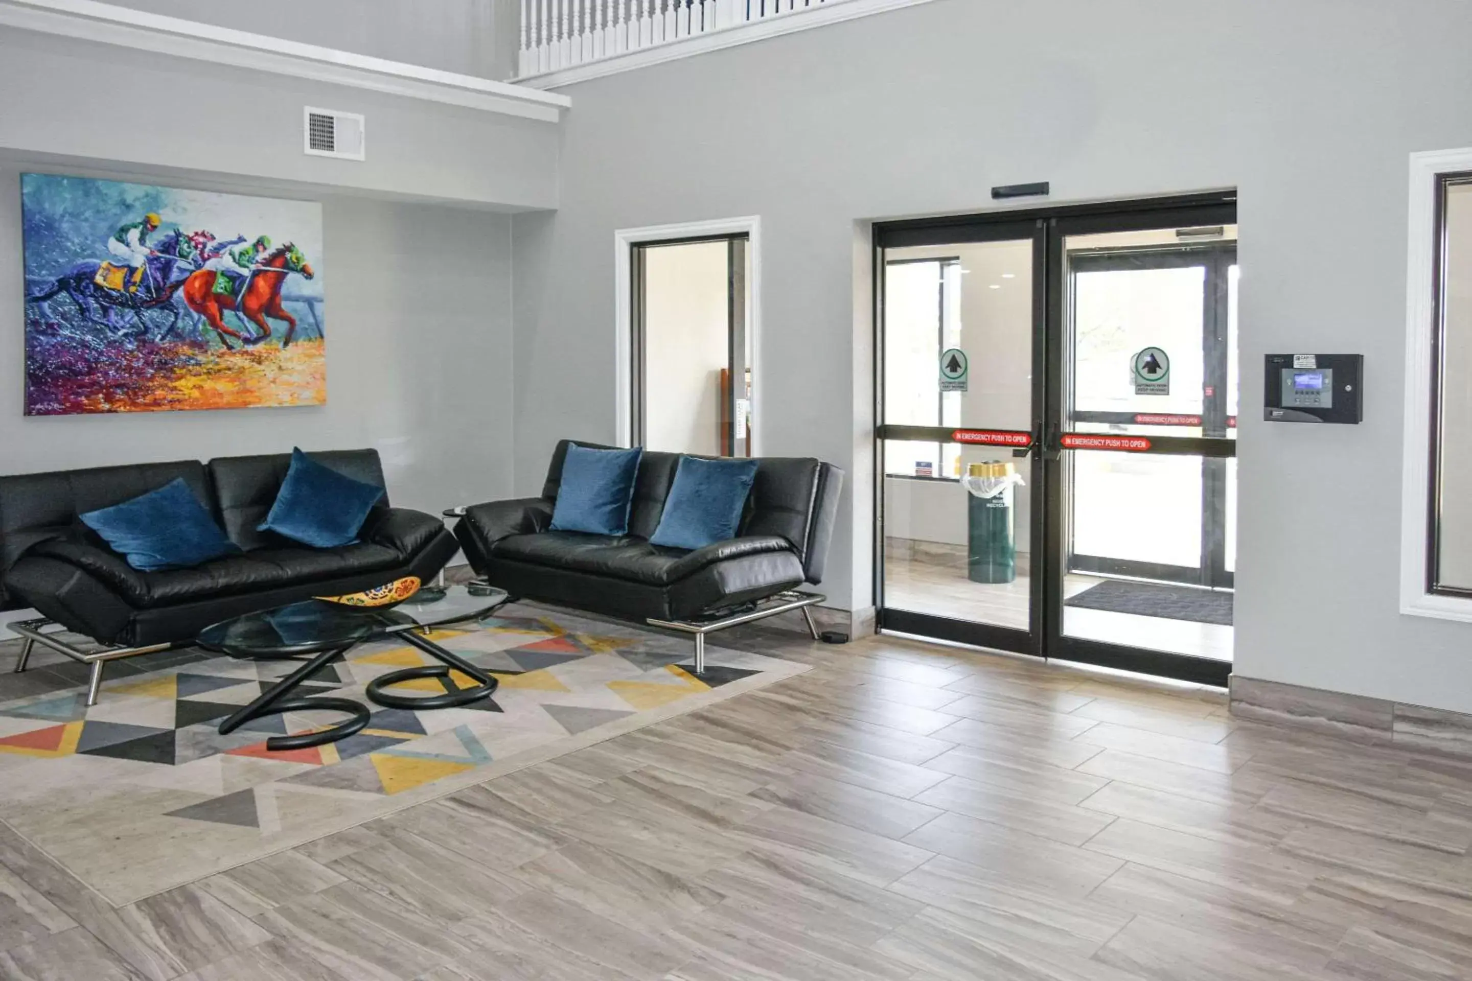
[(1472, 760), (1472, 715), (1232, 675), (1232, 715)]

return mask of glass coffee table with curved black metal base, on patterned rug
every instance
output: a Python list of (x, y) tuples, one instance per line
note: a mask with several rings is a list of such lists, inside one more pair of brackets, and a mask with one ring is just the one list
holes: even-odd
[[(471, 593), (464, 585), (425, 587), (403, 603), (390, 607), (303, 600), (206, 627), (196, 640), (206, 650), (243, 660), (306, 659), (300, 668), (278, 681), (259, 699), (221, 722), (219, 732), (233, 732), (263, 715), (319, 710), (346, 712), (352, 718), (316, 732), (272, 735), (266, 740), (266, 749), (306, 749), (334, 743), (358, 732), (368, 725), (371, 715), (368, 706), (342, 697), (287, 699), (286, 696), (322, 668), (346, 656), (358, 644), (386, 637), (403, 640), (440, 663), (403, 668), (374, 678), (367, 687), (367, 696), (371, 702), (393, 709), (422, 710), (474, 704), (489, 699), (496, 691), (496, 678), (455, 652), (445, 650), (425, 634), (436, 627), (449, 627), (489, 616), (506, 600), (502, 590), (477, 588), (475, 593)], [(467, 675), (475, 681), (475, 685), (456, 688), (450, 679), (452, 671)], [(402, 681), (420, 678), (442, 678), (446, 687), (445, 694), (406, 696), (387, 690)]]

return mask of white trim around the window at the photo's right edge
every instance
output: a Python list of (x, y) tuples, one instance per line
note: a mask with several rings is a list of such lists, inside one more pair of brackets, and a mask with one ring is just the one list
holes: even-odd
[(1426, 591), (1431, 371), (1435, 334), (1437, 182), (1472, 171), (1472, 147), (1410, 154), (1406, 266), (1406, 434), (1400, 491), (1400, 612), (1472, 622), (1472, 600)]

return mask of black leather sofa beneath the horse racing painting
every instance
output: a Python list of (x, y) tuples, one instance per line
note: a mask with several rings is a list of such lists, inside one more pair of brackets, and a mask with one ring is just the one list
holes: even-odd
[[(312, 459), (384, 484), (377, 450)], [(455, 554), (455, 538), (439, 518), (392, 507), (387, 493), (359, 540), (340, 549), (311, 549), (256, 531), (290, 462), (290, 454), (236, 456), (0, 477), (0, 610), (34, 607), (46, 618), (12, 627), (26, 640), (16, 669), (25, 668), (34, 643), (91, 663), (91, 704), (106, 660), (193, 641), (218, 621), (312, 596), (353, 593), (406, 575), (428, 582)], [(140, 572), (78, 519), (175, 478), (184, 478), (244, 554)], [(46, 632), (50, 624), (103, 649), (63, 643)]]

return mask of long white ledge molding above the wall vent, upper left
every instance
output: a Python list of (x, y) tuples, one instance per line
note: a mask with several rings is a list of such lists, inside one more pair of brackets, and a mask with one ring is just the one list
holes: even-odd
[(558, 122), (565, 96), (96, 0), (0, 0), (0, 26)]

